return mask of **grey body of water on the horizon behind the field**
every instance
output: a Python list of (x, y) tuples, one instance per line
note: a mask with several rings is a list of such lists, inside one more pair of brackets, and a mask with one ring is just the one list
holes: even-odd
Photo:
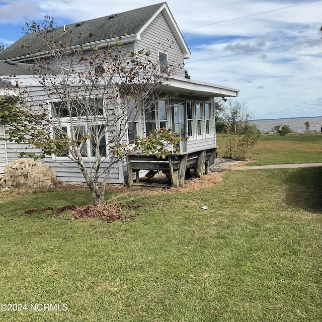
[(274, 120), (254, 120), (262, 133), (273, 133), (273, 127), (278, 125), (288, 125), (294, 132), (305, 132), (305, 122), (310, 123), (310, 131), (321, 131), (322, 117), (301, 117), (294, 119), (274, 119)]

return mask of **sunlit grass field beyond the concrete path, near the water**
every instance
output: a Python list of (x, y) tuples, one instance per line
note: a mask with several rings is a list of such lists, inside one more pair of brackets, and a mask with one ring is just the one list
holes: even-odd
[[(218, 154), (225, 150), (224, 136), (217, 136)], [(322, 133), (311, 132), (280, 136), (262, 134), (251, 150), (255, 159), (248, 165), (262, 166), (274, 164), (320, 163), (322, 162)]]

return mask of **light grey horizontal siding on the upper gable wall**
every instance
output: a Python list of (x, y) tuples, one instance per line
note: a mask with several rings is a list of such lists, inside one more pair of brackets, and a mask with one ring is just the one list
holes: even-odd
[(137, 50), (149, 49), (158, 60), (158, 52), (168, 54), (168, 62), (178, 64), (176, 76), (185, 77), (183, 52), (170, 29), (164, 15), (159, 13), (141, 34), (141, 40), (137, 41)]

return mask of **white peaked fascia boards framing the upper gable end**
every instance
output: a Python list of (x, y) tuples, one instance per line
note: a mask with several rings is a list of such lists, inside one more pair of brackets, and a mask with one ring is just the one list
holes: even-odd
[(182, 52), (183, 52), (183, 55), (184, 55), (184, 58), (190, 58), (190, 55), (191, 55), (191, 51), (185, 41), (185, 39), (183, 38), (182, 36), (182, 33), (175, 21), (175, 19), (173, 18), (170, 10), (169, 10), (169, 7), (166, 3), (164, 3), (156, 12), (155, 14), (146, 22), (145, 25), (143, 25), (143, 27), (139, 30), (139, 32), (137, 33), (137, 36), (139, 38), (141, 38), (141, 33), (147, 28), (147, 26), (156, 18), (156, 16), (162, 12), (165, 16), (165, 19), (170, 27), (170, 29), (172, 30), (173, 34), (175, 35), (178, 43), (179, 43), (179, 46), (181, 47), (182, 49)]

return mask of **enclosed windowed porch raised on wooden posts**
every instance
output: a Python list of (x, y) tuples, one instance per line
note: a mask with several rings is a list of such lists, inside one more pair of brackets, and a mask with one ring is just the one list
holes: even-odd
[(129, 186), (140, 182), (140, 175), (145, 175), (143, 171), (149, 171), (149, 175), (162, 172), (174, 187), (183, 186), (185, 178), (192, 175), (208, 174), (217, 152), (213, 98), (236, 97), (239, 92), (185, 78), (171, 78), (161, 90), (165, 97), (170, 94), (175, 98), (160, 96), (142, 118), (129, 127), (132, 130), (129, 140), (134, 134), (144, 137), (152, 129), (169, 127), (185, 139), (173, 147), (173, 153), (165, 159), (158, 159), (154, 154), (129, 155), (126, 159)]

